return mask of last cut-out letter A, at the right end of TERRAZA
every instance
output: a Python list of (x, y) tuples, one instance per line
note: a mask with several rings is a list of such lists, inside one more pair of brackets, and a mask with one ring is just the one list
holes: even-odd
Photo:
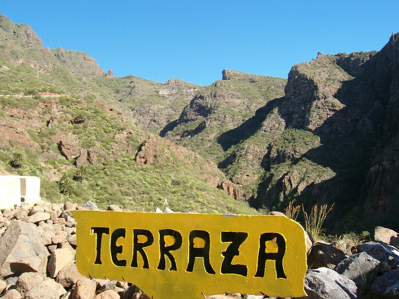
[[(267, 253), (266, 242), (271, 241), (274, 238), (276, 238), (276, 243), (278, 247), (277, 253)], [(284, 257), (284, 253), (285, 240), (282, 235), (273, 232), (265, 232), (264, 234), (261, 234), (261, 237), (259, 238), (258, 266), (254, 277), (265, 276), (266, 260), (274, 260), (277, 278), (287, 278), (285, 276), (284, 269), (282, 268), (282, 258)]]

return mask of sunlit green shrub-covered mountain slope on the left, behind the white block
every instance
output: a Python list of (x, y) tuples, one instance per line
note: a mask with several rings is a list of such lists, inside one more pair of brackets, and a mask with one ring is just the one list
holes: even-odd
[[(181, 212), (257, 213), (216, 188), (225, 178), (213, 163), (132, 124), (115, 98), (131, 76), (92, 73), (98, 65), (89, 55), (56, 48), (60, 60), (29, 26), (3, 15), (0, 24), (0, 91), (31, 95), (0, 97), (2, 173), (41, 177), (41, 196), (51, 201), (72, 196), (149, 211), (167, 198)], [(24, 43), (18, 30), (32, 42)], [(66, 95), (41, 98), (40, 92)]]

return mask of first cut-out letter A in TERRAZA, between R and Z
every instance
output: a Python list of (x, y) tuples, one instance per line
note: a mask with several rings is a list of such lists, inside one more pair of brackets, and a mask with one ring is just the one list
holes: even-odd
[[(194, 247), (194, 238), (203, 239), (205, 241), (205, 246), (203, 248)], [(209, 274), (215, 274), (215, 271), (213, 270), (211, 263), (209, 262), (209, 250), (211, 248), (209, 232), (205, 232), (205, 230), (192, 230), (190, 232), (188, 240), (188, 265), (186, 271), (193, 271), (195, 258), (203, 258), (203, 266), (205, 267), (205, 271)]]

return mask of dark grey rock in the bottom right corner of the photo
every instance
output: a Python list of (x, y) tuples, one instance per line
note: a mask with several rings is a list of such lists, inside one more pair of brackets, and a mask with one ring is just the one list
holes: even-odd
[(399, 271), (389, 271), (377, 277), (370, 290), (382, 298), (399, 298)]

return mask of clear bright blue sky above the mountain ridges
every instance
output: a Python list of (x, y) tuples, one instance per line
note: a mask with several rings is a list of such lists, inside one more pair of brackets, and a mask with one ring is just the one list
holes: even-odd
[(286, 78), (318, 51), (380, 50), (399, 31), (397, 1), (100, 2), (0, 0), (0, 13), (115, 76), (199, 85), (223, 69)]

